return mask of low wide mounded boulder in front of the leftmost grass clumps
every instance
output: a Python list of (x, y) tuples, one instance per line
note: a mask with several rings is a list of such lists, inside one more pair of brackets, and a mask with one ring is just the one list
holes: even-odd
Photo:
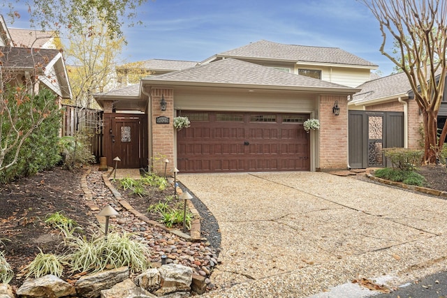
[(75, 295), (75, 287), (61, 278), (48, 274), (41, 278), (27, 279), (17, 290), (18, 297), (59, 298)]

